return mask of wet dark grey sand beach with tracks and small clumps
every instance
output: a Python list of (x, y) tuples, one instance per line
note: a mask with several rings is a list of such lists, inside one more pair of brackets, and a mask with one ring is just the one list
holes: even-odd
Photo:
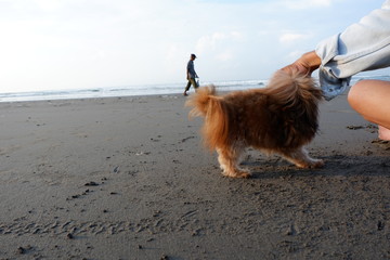
[(389, 144), (340, 95), (298, 169), (221, 174), (181, 94), (0, 103), (0, 259), (389, 259)]

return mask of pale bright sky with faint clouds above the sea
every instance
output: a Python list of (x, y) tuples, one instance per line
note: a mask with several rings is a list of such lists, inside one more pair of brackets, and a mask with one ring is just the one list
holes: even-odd
[(268, 79), (384, 0), (0, 0), (0, 92)]

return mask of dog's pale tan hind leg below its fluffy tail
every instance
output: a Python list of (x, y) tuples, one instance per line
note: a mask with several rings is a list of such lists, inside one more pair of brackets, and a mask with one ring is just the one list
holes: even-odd
[(235, 148), (217, 148), (218, 152), (218, 161), (222, 169), (222, 174), (225, 177), (232, 178), (249, 178), (250, 171), (246, 169), (240, 169), (238, 167), (239, 158), (244, 152), (243, 147)]

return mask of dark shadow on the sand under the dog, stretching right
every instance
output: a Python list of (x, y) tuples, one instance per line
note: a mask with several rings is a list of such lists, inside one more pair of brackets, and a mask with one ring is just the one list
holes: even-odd
[(242, 162), (243, 168), (248, 168), (252, 176), (250, 179), (278, 179), (289, 177), (348, 177), (348, 176), (390, 176), (390, 161), (386, 156), (322, 156), (325, 165), (316, 169), (301, 169), (283, 158), (249, 157)]

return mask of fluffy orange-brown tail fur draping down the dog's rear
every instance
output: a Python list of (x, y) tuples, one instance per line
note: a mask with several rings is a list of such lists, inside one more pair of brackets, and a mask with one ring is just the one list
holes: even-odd
[(224, 101), (216, 95), (214, 86), (198, 88), (196, 93), (188, 98), (185, 106), (193, 107), (190, 117), (204, 116), (202, 129), (204, 144), (211, 151), (226, 144), (229, 140), (229, 113)]

